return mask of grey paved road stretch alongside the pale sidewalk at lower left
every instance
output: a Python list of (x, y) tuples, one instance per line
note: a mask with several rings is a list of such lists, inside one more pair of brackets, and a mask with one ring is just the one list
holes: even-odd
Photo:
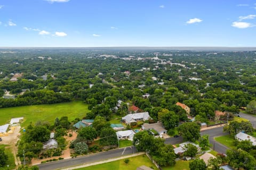
[(63, 160), (53, 161), (51, 163), (39, 164), (38, 167), (40, 170), (60, 169), (60, 168), (71, 167), (75, 165), (81, 165), (84, 163), (93, 163), (95, 161), (129, 155), (131, 153), (133, 153), (133, 148), (127, 147), (122, 149), (115, 149), (115, 150), (110, 150), (106, 152), (95, 153), (93, 155), (88, 155), (88, 156), (63, 159)]

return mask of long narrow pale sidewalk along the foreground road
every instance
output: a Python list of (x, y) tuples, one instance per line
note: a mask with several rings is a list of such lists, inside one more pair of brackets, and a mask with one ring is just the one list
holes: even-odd
[(144, 154), (145, 154), (145, 152), (139, 152), (139, 153), (134, 153), (134, 154), (131, 154), (131, 155), (123, 156), (123, 157), (101, 160), (101, 161), (97, 161), (97, 162), (94, 162), (94, 163), (87, 163), (87, 164), (83, 164), (83, 165), (79, 165), (79, 166), (64, 168), (64, 169), (61, 169), (61, 170), (72, 170), (72, 169), (84, 168), (84, 167), (87, 167), (87, 166), (105, 164), (105, 163), (109, 163), (111, 161), (116, 161), (116, 160), (120, 160), (120, 159), (135, 157), (135, 156), (144, 155)]

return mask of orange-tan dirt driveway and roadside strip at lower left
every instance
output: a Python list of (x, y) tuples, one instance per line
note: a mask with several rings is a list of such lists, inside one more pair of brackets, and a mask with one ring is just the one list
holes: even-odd
[(46, 161), (49, 159), (58, 159), (59, 157), (64, 158), (64, 159), (68, 159), (71, 158), (70, 156), (70, 148), (69, 148), (69, 144), (71, 141), (76, 139), (77, 133), (73, 132), (73, 136), (69, 137), (69, 134), (71, 134), (71, 132), (68, 133), (68, 136), (64, 136), (64, 138), (68, 141), (68, 145), (66, 147), (65, 150), (62, 151), (62, 155), (61, 156), (56, 156), (56, 157), (51, 157), (51, 158), (44, 158), (44, 159), (32, 159), (31, 160), (31, 165), (38, 165), (41, 164), (42, 161)]

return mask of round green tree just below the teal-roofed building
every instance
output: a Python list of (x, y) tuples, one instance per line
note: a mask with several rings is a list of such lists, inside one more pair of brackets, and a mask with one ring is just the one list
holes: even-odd
[(83, 127), (78, 130), (78, 136), (82, 137), (84, 140), (86, 140), (87, 144), (88, 144), (89, 142), (96, 139), (97, 132), (96, 132), (95, 128), (93, 128), (93, 127), (90, 127), (90, 126)]

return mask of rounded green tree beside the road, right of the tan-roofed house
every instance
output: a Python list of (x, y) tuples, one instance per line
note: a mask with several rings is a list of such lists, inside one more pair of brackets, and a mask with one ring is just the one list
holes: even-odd
[(186, 122), (178, 127), (184, 141), (194, 142), (200, 137), (200, 126), (194, 122)]

